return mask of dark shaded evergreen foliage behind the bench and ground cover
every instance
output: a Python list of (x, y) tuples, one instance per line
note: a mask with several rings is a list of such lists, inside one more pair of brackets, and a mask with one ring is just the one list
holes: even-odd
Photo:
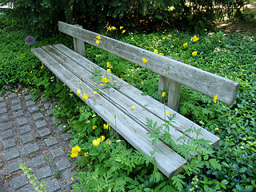
[(18, 0), (13, 3), (14, 10), (7, 11), (10, 18), (20, 20), (26, 30), (50, 35), (57, 30), (58, 21), (94, 31), (106, 26), (129, 26), (130, 31), (152, 32), (175, 26), (201, 33), (216, 20), (242, 18), (246, 1)]

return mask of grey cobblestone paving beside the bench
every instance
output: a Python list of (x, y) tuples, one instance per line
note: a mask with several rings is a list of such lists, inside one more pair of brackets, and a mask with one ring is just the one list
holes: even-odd
[(70, 134), (62, 133), (65, 125), (55, 126), (51, 113), (50, 102), (34, 102), (26, 90), (6, 90), (0, 96), (0, 192), (34, 190), (19, 163), (29, 166), (39, 182), (45, 181), (47, 191), (70, 191), (75, 166), (67, 156)]

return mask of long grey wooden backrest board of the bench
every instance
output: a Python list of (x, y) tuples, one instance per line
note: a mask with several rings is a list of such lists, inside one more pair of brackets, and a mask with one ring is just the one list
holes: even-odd
[[(222, 78), (216, 74), (211, 74), (205, 70), (200, 70), (194, 66), (166, 58), (159, 54), (154, 54), (148, 50), (143, 50), (136, 46), (131, 46), (125, 42), (117, 41), (101, 35), (99, 44), (96, 44), (97, 33), (71, 26), (64, 22), (58, 22), (58, 29), (74, 38), (78, 38), (91, 45), (98, 46), (103, 50), (116, 54), (139, 66), (152, 70), (163, 77), (179, 82), (202, 94), (214, 98), (218, 94), (218, 101), (232, 105), (238, 91), (238, 83), (230, 79)], [(147, 62), (143, 64), (142, 58)]]

